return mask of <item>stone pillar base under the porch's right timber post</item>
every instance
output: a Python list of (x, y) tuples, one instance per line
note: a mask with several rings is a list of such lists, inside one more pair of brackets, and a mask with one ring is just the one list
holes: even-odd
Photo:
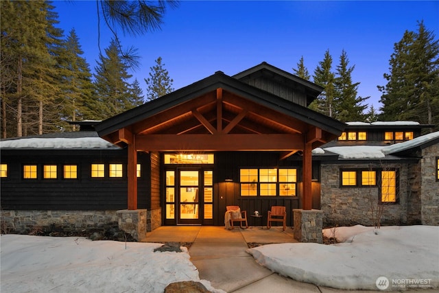
[(323, 243), (323, 211), (293, 209), (294, 239), (298, 242)]

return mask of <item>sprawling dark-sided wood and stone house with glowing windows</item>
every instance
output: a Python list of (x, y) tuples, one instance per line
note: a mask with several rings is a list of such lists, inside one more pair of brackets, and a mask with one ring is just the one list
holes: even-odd
[[(396, 176), (388, 180), (396, 193), (384, 222), (438, 224), (438, 137), (384, 150), (416, 141), (427, 126), (346, 125), (307, 108), (321, 91), (263, 62), (233, 76), (217, 71), (102, 122), (77, 123), (80, 132), (5, 139), (3, 226), (119, 226), (141, 240), (162, 225), (223, 225), (228, 205), (263, 215), (282, 205), (295, 237), (304, 227), (308, 235), (298, 239), (320, 242), (323, 223), (370, 223), (370, 208), (359, 210), (368, 206), (356, 198), (366, 190), (359, 181), (366, 170), (376, 202), (378, 176)], [(381, 137), (390, 131), (393, 138)], [(337, 152), (366, 143), (383, 157)], [(345, 177), (355, 185), (344, 186)], [(407, 180), (417, 184), (410, 196)]]

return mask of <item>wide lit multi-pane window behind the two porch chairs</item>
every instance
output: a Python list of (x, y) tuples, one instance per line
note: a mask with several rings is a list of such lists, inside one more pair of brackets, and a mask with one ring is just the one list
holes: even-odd
[(297, 169), (240, 169), (241, 196), (296, 196)]

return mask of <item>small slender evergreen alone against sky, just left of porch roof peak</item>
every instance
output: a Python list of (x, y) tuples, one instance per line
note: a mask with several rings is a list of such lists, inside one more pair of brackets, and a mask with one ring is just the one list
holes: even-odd
[(153, 99), (174, 91), (172, 88), (172, 82), (174, 82), (174, 80), (169, 78), (165, 64), (162, 64), (161, 57), (156, 59), (156, 65), (150, 67), (150, 69), (150, 78), (145, 78), (147, 101), (152, 101)]

